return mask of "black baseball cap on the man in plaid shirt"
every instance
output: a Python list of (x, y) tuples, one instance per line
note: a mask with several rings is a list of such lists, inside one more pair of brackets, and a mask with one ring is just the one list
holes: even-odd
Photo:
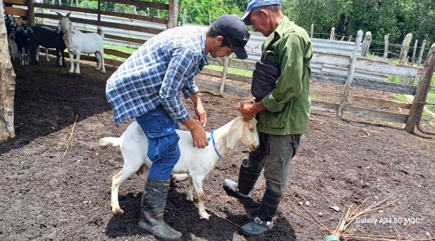
[(218, 34), (231, 44), (235, 56), (238, 59), (247, 59), (248, 54), (244, 50), (244, 45), (248, 43), (250, 34), (242, 19), (231, 14), (222, 15), (213, 22), (213, 25), (218, 30)]

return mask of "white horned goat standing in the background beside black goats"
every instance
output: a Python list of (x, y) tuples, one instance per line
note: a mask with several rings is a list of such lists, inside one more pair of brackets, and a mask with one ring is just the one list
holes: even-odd
[[(104, 33), (101, 28), (98, 27), (100, 34), (95, 32), (90, 32), (84, 34), (80, 30), (77, 30), (72, 25), (69, 17), (71, 13), (66, 14), (66, 16), (57, 12), (61, 16), (59, 24), (57, 25), (57, 32), (60, 30), (64, 31), (64, 41), (66, 48), (68, 48), (68, 54), (70, 54), (70, 73), (75, 72), (80, 74), (80, 54), (95, 54), (97, 58), (97, 67), (95, 70), (101, 70), (101, 73), (106, 73), (106, 68), (104, 67), (104, 48), (103, 48), (103, 38)], [(75, 61), (74, 61), (75, 53)], [(74, 70), (74, 62), (76, 64)]]

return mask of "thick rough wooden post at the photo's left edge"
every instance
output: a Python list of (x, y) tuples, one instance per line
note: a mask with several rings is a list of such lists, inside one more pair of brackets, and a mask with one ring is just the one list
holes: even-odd
[(10, 62), (3, 4), (0, 4), (0, 143), (15, 137), (15, 72)]

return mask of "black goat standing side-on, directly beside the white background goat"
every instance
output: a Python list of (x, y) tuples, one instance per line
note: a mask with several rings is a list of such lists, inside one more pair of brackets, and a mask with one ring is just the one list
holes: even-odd
[[(30, 56), (32, 56), (32, 62), (34, 65), (39, 64), (37, 55), (39, 54), (39, 46), (43, 48), (55, 48), (56, 49), (56, 66), (66, 67), (64, 51), (66, 45), (64, 42), (64, 33), (57, 33), (55, 29), (50, 30), (45, 27), (33, 27), (33, 33), (30, 35)], [(62, 57), (62, 65), (60, 65), (59, 60)]]

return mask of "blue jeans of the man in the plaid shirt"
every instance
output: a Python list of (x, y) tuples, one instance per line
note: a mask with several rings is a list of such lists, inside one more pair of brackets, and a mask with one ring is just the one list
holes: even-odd
[(148, 139), (147, 154), (153, 163), (148, 179), (168, 180), (180, 159), (180, 136), (175, 132), (180, 126), (165, 112), (162, 105), (142, 116), (136, 116), (136, 121)]

